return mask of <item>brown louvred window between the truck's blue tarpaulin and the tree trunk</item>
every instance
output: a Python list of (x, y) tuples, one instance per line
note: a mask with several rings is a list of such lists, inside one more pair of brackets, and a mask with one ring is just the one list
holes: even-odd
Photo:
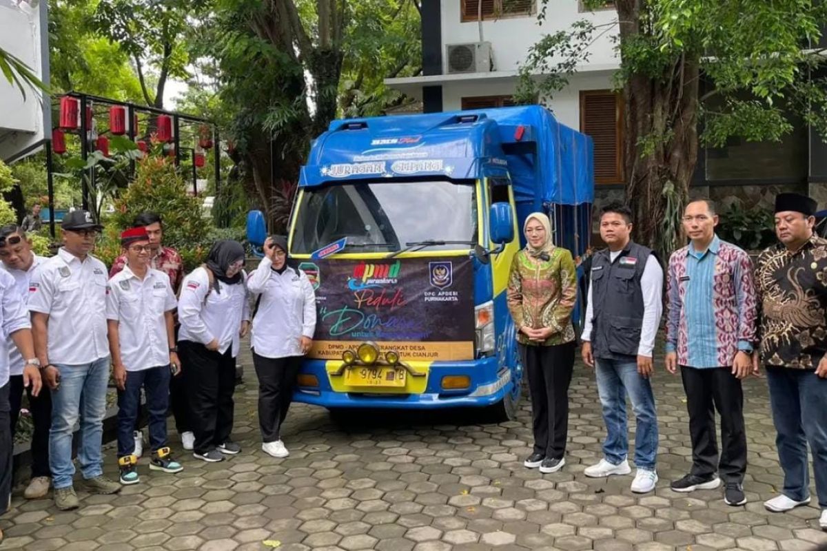
[(580, 131), (595, 143), (595, 183), (624, 183), (623, 121), (623, 97), (619, 93), (580, 93)]

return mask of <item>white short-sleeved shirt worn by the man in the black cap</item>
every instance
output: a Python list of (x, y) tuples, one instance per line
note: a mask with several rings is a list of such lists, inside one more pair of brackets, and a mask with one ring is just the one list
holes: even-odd
[(92, 255), (81, 262), (62, 247), (32, 274), (28, 307), (49, 315), (50, 363), (83, 365), (109, 356), (106, 287), (103, 262)]

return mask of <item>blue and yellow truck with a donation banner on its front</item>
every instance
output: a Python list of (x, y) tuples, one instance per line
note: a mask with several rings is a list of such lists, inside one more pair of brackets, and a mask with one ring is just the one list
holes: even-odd
[(586, 252), (592, 157), (589, 136), (540, 106), (333, 121), (289, 223), (318, 311), (295, 400), (514, 418), (511, 260), (533, 211), (549, 215), (557, 245)]

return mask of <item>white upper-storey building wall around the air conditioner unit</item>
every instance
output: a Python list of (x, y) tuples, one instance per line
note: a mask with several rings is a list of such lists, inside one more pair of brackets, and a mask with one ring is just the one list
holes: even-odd
[[(467, 0), (473, 2), (473, 0)], [(538, 9), (543, 0), (535, 0)], [(595, 25), (610, 23), (617, 19), (614, 10), (599, 12), (578, 12), (577, 0), (548, 0), (547, 17), (543, 25), (538, 25), (537, 16), (509, 17), (495, 21), (483, 21), (483, 38), (491, 43), (494, 50), (496, 71), (513, 71), (518, 64), (525, 61), (528, 48), (536, 44), (543, 35), (569, 29), (571, 23), (589, 19)], [(617, 33), (617, 26), (601, 36), (590, 46), (590, 65), (605, 68), (607, 65), (619, 65), (614, 55), (614, 43), (611, 36)], [(479, 41), (477, 21), (461, 22), (461, 0), (442, 0), (442, 58), (445, 63), (445, 45)], [(443, 66), (447, 74), (447, 66)], [(481, 95), (481, 94), (478, 94)]]

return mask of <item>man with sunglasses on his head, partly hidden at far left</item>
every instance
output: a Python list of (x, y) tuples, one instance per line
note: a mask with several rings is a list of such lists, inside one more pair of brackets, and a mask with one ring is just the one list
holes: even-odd
[[(26, 238), (26, 232), (16, 224), (9, 224), (0, 228), (0, 261), (2, 267), (12, 275), (17, 283), (17, 292), (25, 305), (29, 297), (29, 282), (31, 275), (45, 259), (37, 256), (31, 250), (31, 240)], [(26, 499), (40, 499), (49, 493), (51, 471), (49, 469), (49, 429), (51, 427), (51, 395), (47, 387), (41, 389), (40, 394), (32, 394), (31, 385), (24, 384), (23, 373), (27, 366), (26, 360), (9, 338), (7, 341), (8, 362), (11, 377), (9, 378), (9, 405), (11, 406), (12, 440), (14, 439), (17, 418), (20, 416), (23, 392), (29, 400), (29, 411), (34, 424), (31, 435), (31, 481), (23, 495)], [(34, 356), (31, 356), (34, 358)]]

